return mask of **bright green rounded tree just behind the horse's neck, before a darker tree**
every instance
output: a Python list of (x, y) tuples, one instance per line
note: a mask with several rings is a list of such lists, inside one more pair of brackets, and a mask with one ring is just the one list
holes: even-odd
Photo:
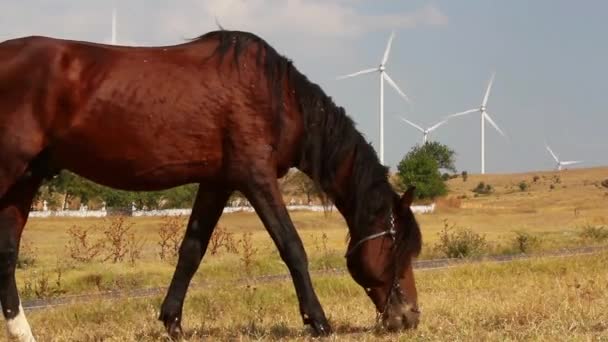
[(439, 164), (428, 151), (414, 147), (401, 160), (397, 171), (402, 190), (410, 185), (415, 186), (417, 198), (435, 198), (447, 193)]

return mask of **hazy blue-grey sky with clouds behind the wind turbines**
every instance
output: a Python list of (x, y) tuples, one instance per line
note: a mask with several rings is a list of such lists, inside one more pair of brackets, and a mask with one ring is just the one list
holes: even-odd
[[(580, 167), (608, 165), (606, 1), (470, 0), (28, 0), (0, 2), (0, 41), (44, 35), (109, 42), (112, 6), (118, 44), (173, 45), (217, 29), (258, 34), (343, 106), (379, 149), (376, 74), (395, 39), (387, 72), (412, 99), (385, 84), (385, 164), (395, 169), (430, 126), (479, 107), (492, 72), (486, 173), (551, 170), (547, 142)], [(603, 43), (602, 43), (603, 42)], [(430, 139), (456, 152), (456, 167), (480, 171), (480, 116), (450, 120)]]

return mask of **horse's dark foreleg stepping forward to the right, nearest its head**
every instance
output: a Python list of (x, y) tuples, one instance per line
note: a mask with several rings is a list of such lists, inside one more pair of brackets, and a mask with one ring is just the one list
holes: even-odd
[(276, 177), (253, 177), (246, 195), (289, 269), (304, 324), (310, 324), (319, 335), (329, 335), (331, 327), (312, 286), (304, 245), (283, 203)]

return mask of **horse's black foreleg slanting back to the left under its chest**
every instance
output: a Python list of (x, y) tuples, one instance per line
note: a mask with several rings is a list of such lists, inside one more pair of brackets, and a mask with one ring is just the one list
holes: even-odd
[(188, 228), (179, 250), (173, 280), (163, 301), (159, 319), (172, 337), (181, 334), (182, 307), (190, 281), (205, 255), (209, 239), (231, 191), (199, 189)]

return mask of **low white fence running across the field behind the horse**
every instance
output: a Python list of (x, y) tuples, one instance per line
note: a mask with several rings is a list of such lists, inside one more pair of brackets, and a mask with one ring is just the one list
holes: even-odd
[[(431, 205), (415, 205), (411, 207), (412, 211), (417, 214), (428, 214), (435, 211), (435, 203)], [(289, 211), (315, 211), (322, 212), (324, 207), (321, 205), (288, 205), (287, 210)], [(332, 206), (325, 210), (337, 211), (336, 207)], [(188, 216), (191, 213), (191, 209), (162, 209), (162, 210), (138, 210), (131, 208), (131, 211), (126, 211), (127, 215), (135, 217), (142, 216)], [(224, 213), (236, 213), (236, 212), (254, 212), (254, 209), (250, 206), (235, 206), (225, 207)], [(79, 210), (41, 210), (31, 211), (30, 217), (106, 217), (108, 211), (105, 207), (101, 210), (88, 210), (86, 207), (81, 207)]]

